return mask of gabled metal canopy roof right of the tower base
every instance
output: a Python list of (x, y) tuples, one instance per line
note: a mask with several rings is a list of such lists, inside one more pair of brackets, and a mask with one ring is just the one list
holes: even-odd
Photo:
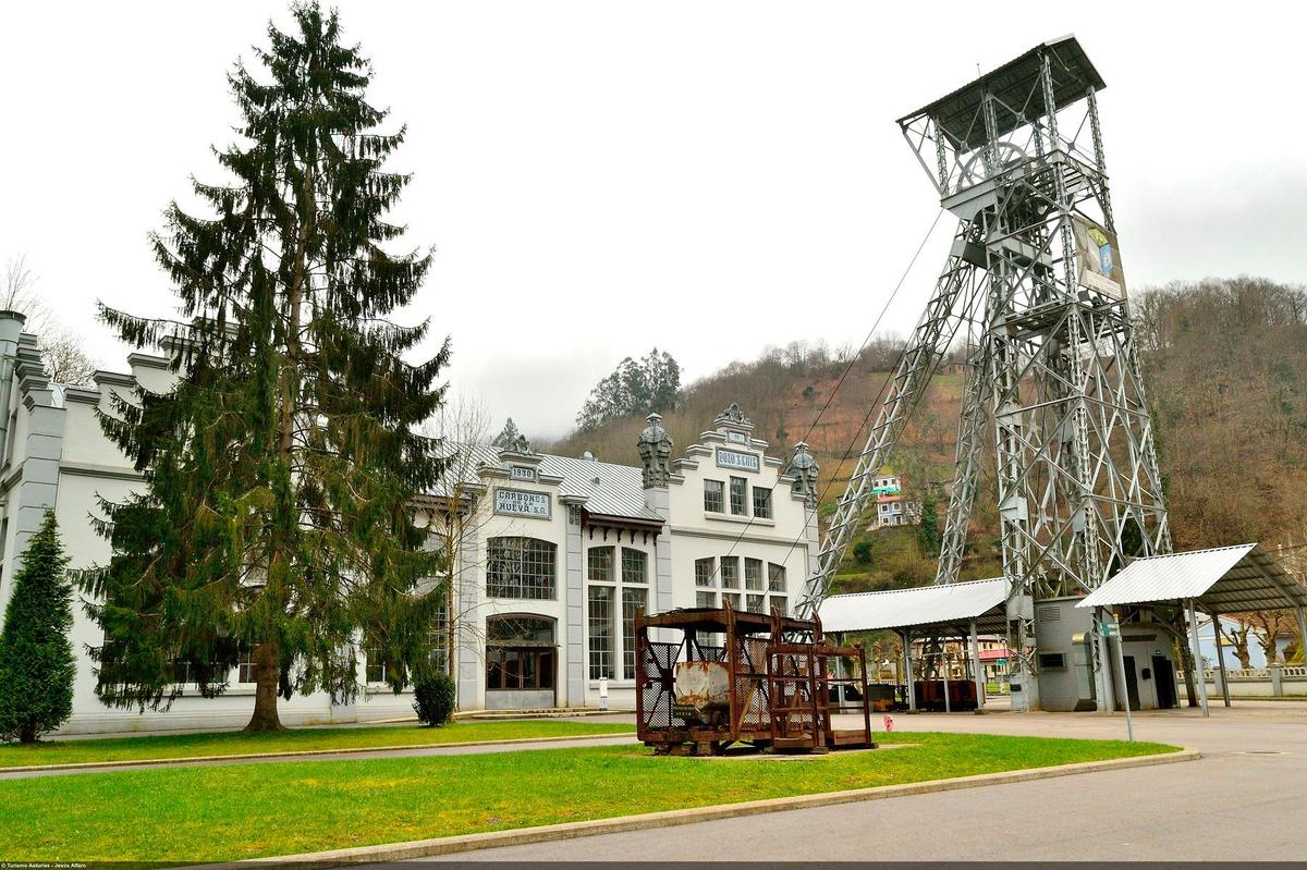
[(1144, 556), (1100, 585), (1077, 607), (1111, 607), (1195, 598), (1206, 613), (1307, 606), (1307, 588), (1259, 543)]

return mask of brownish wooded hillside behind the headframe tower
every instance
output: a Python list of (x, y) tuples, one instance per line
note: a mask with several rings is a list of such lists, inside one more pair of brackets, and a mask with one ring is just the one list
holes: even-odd
[[(1133, 314), (1175, 546), (1307, 541), (1307, 289), (1260, 278), (1172, 283), (1137, 294)], [(682, 389), (674, 409), (659, 409), (663, 425), (680, 453), (723, 408), (740, 402), (772, 453), (788, 455), (801, 439), (812, 445), (829, 516), (852, 470), (846, 456), (861, 449), (902, 344), (880, 338), (856, 358), (819, 341), (770, 349)], [(946, 361), (895, 451), (890, 470), (904, 475), (910, 498), (951, 478), (959, 389), (957, 364)], [(623, 417), (549, 449), (638, 464), (643, 425), (643, 415)], [(963, 579), (1001, 571), (992, 464), (980, 489)], [(915, 546), (911, 529), (863, 540), (870, 541), (869, 553), (863, 547), (869, 558), (859, 563), (851, 547), (840, 590), (920, 585), (935, 576), (935, 556)]]

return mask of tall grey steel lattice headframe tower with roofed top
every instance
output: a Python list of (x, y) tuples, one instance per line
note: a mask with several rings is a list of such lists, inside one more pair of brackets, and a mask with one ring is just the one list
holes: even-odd
[(936, 581), (957, 579), (992, 431), (1018, 671), (1034, 673), (1034, 600), (1087, 592), (1127, 556), (1170, 551), (1098, 123), (1103, 86), (1065, 37), (899, 120), (958, 230), (800, 613), (825, 597), (872, 479), (954, 342), (967, 371)]

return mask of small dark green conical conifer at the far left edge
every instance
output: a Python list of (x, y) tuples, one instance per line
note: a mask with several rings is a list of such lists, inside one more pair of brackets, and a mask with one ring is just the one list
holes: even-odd
[(73, 712), (77, 665), (68, 556), (54, 511), (27, 542), (0, 634), (0, 741), (34, 743)]

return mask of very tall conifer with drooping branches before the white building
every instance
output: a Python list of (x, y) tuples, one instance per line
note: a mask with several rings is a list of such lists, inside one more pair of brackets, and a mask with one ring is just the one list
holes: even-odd
[(174, 202), (153, 236), (180, 317), (101, 306), (124, 341), (163, 349), (178, 380), (102, 414), (148, 486), (103, 503), (114, 556), (81, 579), (105, 630), (105, 703), (166, 708), (182, 662), (220, 694), (246, 654), (250, 730), (281, 728), (278, 695), (352, 698), (365, 637), (399, 691), (442, 600), (420, 592), (439, 566), (410, 499), (440, 474), (438, 444), (413, 426), (440, 404), (448, 347), (410, 364), (427, 323), (387, 319), (430, 261), (387, 250), (409, 176), (384, 162), (404, 129), (379, 132), (370, 64), (341, 43), (337, 14), (291, 13), (255, 50), (261, 69), (229, 74), (239, 141), (217, 158), (230, 183), (192, 182), (210, 213)]

